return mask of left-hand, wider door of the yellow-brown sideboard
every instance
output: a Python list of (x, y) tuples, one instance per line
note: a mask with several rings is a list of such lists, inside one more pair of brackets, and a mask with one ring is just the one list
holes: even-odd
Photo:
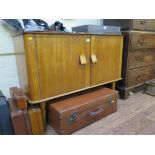
[(41, 98), (90, 86), (89, 35), (36, 34), (35, 40)]

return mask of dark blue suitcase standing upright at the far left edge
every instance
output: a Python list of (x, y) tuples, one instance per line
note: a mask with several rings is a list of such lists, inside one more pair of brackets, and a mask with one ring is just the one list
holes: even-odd
[(0, 134), (14, 135), (8, 102), (0, 91)]

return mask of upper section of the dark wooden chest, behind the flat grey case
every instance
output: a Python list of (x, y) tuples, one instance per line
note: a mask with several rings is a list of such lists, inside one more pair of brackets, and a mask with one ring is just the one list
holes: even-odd
[(122, 30), (155, 31), (155, 19), (104, 19), (104, 25), (120, 26)]

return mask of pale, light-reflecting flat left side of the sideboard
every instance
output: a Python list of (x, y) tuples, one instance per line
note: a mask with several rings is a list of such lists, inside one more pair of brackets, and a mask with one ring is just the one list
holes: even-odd
[(25, 93), (28, 93), (28, 75), (25, 60), (23, 36), (15, 36), (13, 41), (20, 87), (24, 90)]

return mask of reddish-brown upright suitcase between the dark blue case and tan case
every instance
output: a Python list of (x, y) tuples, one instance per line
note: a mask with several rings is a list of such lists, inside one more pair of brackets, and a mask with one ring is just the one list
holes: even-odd
[(13, 99), (9, 99), (9, 106), (15, 134), (32, 135), (31, 124), (27, 110), (18, 109)]

